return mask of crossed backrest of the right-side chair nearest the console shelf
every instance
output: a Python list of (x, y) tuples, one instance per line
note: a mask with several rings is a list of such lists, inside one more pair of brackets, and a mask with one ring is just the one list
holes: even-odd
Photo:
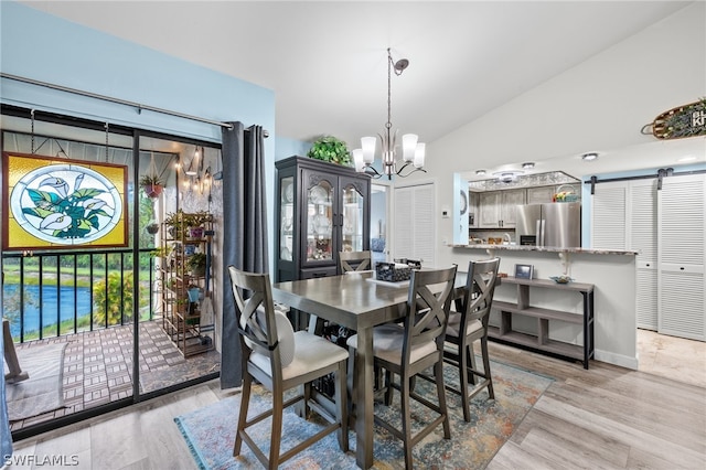
[(500, 258), (469, 263), (461, 324), (480, 320), (483, 329), (488, 330), (499, 268)]

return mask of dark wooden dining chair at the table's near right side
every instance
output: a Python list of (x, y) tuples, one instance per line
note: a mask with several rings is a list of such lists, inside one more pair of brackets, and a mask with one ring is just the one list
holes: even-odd
[[(451, 438), (443, 384), (443, 333), (454, 279), (456, 266), (413, 270), (404, 322), (386, 323), (373, 329), (374, 364), (385, 370), (385, 403), (392, 403), (393, 388), (399, 391), (402, 428), (396, 428), (378, 415), (374, 417), (375, 424), (403, 441), (405, 467), (408, 469), (413, 468), (413, 447), (437, 426), (442, 425), (445, 439)], [(354, 350), (357, 337), (351, 337), (347, 344)], [(437, 403), (417, 394), (413, 386), (413, 378), (429, 367), (434, 367)], [(399, 376), (399, 383), (393, 381), (393, 374)], [(410, 398), (439, 415), (414, 435)]]

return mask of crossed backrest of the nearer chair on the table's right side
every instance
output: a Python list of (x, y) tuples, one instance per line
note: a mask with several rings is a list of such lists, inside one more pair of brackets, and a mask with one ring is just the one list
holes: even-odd
[(405, 317), (406, 341), (403, 345), (406, 361), (409, 361), (409, 351), (416, 344), (436, 341), (438, 348), (442, 348), (456, 268), (411, 271)]

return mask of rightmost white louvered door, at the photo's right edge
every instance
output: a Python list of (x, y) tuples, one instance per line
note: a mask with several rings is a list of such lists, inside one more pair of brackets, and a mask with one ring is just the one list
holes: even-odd
[(706, 341), (706, 177), (665, 178), (657, 196), (659, 331)]

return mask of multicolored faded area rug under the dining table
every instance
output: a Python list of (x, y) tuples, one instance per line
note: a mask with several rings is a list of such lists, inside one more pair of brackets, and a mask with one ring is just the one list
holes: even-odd
[[(495, 399), (488, 399), (486, 392), (477, 395), (471, 402), (471, 423), (463, 420), (460, 397), (447, 393), (451, 439), (443, 439), (442, 429), (438, 427), (415, 446), (414, 459), (417, 468), (485, 468), (553, 382), (549, 377), (498, 362), (491, 362), (491, 371)], [(457, 377), (453, 367), (445, 368), (447, 383), (456, 383)], [(426, 381), (417, 381), (417, 391), (422, 392), (422, 395), (436, 397), (435, 386)], [(398, 396), (399, 394), (395, 393), (395, 400), (389, 407), (376, 403), (375, 414), (385, 415), (387, 419), (397, 416)], [(252, 399), (249, 408), (252, 415), (271, 406), (269, 393), (261, 387), (254, 388)], [(197, 468), (208, 470), (260, 468), (259, 461), (245, 444), (239, 457), (235, 458), (232, 455), (239, 405), (240, 395), (238, 394), (174, 418)], [(426, 414), (427, 412), (413, 407), (413, 416), (425, 419)], [(266, 419), (250, 428), (252, 436), (266, 455), (269, 449), (270, 426), (270, 419)], [(286, 409), (281, 449), (293, 447), (314, 434), (320, 426), (317, 423), (302, 420), (291, 408)], [(339, 448), (335, 434), (329, 435), (286, 461), (280, 468), (355, 469), (357, 466), (353, 431), (350, 434), (350, 451), (343, 453)], [(404, 468), (405, 466), (402, 442), (377, 426), (373, 456), (375, 469)]]

